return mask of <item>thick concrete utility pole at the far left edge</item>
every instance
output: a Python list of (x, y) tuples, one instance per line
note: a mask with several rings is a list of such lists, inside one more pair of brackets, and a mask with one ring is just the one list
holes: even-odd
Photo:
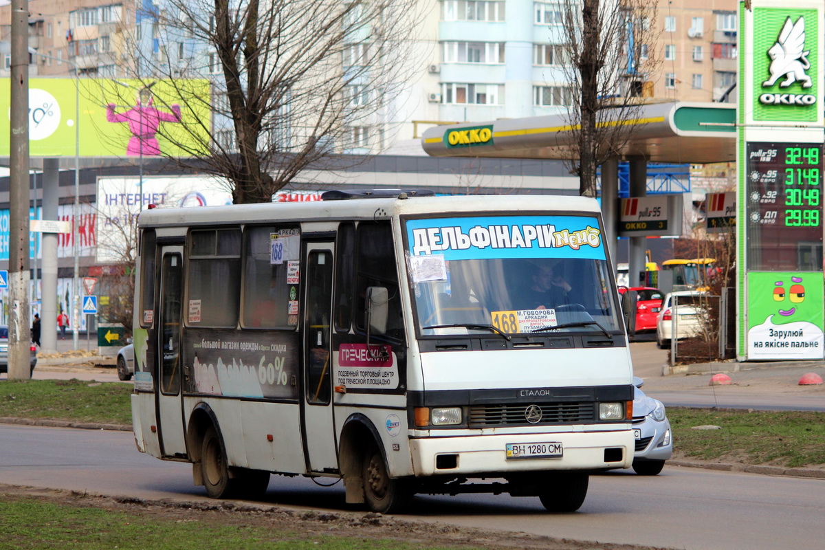
[(8, 378), (28, 379), (31, 378), (28, 0), (12, 0), (12, 78), (9, 82), (12, 109), (9, 114)]

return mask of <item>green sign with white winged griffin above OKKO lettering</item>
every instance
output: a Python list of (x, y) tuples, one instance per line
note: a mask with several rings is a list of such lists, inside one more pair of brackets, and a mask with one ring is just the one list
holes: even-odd
[(817, 120), (816, 26), (814, 10), (754, 13), (755, 119)]

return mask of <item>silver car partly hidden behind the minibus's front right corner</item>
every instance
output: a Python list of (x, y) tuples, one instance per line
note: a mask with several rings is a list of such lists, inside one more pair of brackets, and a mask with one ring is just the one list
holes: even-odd
[(633, 381), (636, 386), (633, 398), (633, 432), (636, 438), (633, 469), (640, 476), (655, 476), (662, 472), (665, 461), (673, 455), (673, 432), (662, 402), (642, 392), (642, 378), (636, 376)]

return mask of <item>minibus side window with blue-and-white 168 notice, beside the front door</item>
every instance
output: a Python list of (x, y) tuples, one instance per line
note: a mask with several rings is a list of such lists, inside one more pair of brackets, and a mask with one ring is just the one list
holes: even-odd
[[(280, 241), (280, 250), (273, 256), (273, 242), (277, 241)], [(244, 230), (241, 314), (244, 328), (295, 329), (300, 296), (299, 247), (297, 225), (267, 225)]]

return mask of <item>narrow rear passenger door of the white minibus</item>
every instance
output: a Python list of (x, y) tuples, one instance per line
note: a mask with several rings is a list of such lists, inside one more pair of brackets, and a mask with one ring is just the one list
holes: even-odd
[(160, 296), (154, 360), (158, 365), (158, 439), (163, 456), (185, 456), (181, 398), (183, 247), (161, 247)]

